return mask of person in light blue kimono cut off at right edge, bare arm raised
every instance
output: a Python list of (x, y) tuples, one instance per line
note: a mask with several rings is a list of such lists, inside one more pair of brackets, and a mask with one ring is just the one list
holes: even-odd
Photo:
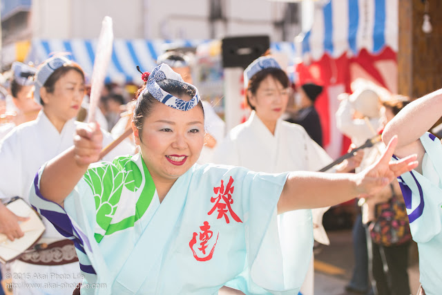
[[(419, 247), (420, 294), (442, 290), (442, 145), (428, 130), (442, 117), (442, 89), (402, 109), (383, 132), (384, 142), (399, 136), (394, 154), (416, 153), (419, 166), (398, 178), (413, 240)], [(425, 290), (425, 291), (424, 291)]]

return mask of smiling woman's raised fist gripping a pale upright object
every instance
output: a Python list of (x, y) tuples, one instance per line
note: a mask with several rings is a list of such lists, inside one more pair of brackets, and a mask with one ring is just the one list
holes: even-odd
[(102, 151), (103, 133), (97, 122), (77, 126), (74, 136), (74, 154), (78, 166), (97, 162)]

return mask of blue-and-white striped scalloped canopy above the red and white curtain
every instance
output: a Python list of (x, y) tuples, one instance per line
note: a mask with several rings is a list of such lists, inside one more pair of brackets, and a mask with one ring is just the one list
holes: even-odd
[(315, 11), (302, 55), (317, 60), (363, 48), (377, 54), (387, 46), (398, 50), (398, 0), (330, 0)]

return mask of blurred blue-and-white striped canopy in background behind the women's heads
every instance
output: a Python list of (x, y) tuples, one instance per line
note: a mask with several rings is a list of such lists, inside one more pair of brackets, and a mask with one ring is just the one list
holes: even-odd
[[(151, 71), (156, 66), (158, 55), (162, 55), (167, 46), (195, 47), (211, 40), (146, 40), (146, 39), (114, 39), (111, 63), (108, 66), (106, 82), (142, 82), (136, 66), (143, 71)], [(67, 53), (76, 61), (90, 79), (93, 72), (97, 39), (33, 39), (30, 53), (26, 59), (40, 64), (53, 53)], [(271, 44), (272, 52), (285, 53), (289, 61), (295, 57), (295, 47), (291, 42)]]

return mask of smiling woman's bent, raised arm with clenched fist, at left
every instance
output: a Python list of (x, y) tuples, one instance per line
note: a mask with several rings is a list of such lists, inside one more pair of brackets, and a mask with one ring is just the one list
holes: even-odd
[(50, 160), (41, 174), (41, 194), (63, 206), (64, 199), (81, 180), (89, 164), (99, 160), (102, 141), (97, 123), (77, 127), (74, 146)]

